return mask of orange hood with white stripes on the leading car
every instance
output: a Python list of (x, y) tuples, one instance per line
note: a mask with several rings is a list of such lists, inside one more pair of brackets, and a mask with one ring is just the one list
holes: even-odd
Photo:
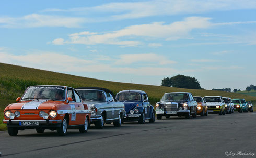
[(53, 106), (57, 106), (63, 102), (51, 101), (51, 100), (33, 100), (33, 101), (22, 101), (13, 103), (8, 106), (11, 109), (52, 109)]

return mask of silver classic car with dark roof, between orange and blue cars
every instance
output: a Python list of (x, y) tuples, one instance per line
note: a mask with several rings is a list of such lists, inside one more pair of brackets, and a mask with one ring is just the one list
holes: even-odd
[(105, 123), (112, 122), (115, 127), (121, 126), (122, 119), (126, 116), (124, 104), (115, 100), (109, 89), (83, 87), (76, 90), (90, 109), (91, 124), (95, 124), (98, 129), (102, 129)]

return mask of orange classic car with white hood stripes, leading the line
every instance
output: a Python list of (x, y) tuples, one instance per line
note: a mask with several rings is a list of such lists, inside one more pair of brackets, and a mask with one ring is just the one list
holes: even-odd
[(86, 133), (90, 121), (90, 111), (77, 91), (66, 86), (31, 86), (17, 103), (9, 104), (4, 110), (3, 123), (7, 124), (10, 136), (19, 130), (57, 130), (60, 136), (67, 128), (78, 128)]

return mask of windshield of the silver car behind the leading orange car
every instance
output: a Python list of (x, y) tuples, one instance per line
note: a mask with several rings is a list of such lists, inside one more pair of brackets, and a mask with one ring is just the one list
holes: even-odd
[(83, 101), (106, 102), (104, 92), (101, 90), (77, 90)]

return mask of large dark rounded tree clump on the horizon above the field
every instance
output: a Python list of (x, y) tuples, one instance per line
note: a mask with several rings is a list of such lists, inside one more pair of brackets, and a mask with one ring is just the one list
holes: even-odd
[(188, 88), (188, 89), (202, 89), (200, 83), (194, 77), (185, 75), (176, 75), (171, 78), (162, 79), (161, 86)]

